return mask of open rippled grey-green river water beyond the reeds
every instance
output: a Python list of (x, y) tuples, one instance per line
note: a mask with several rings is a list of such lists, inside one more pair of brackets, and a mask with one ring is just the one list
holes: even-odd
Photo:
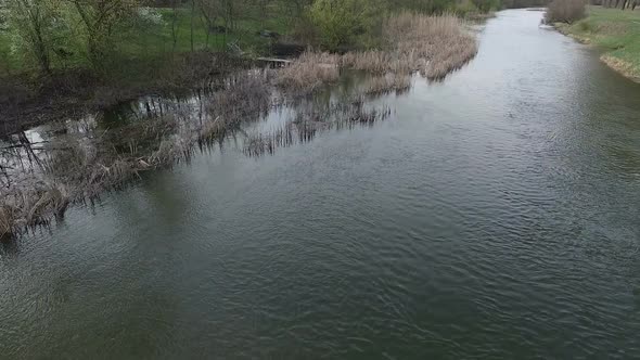
[(640, 357), (640, 86), (540, 16), (387, 121), (3, 245), (0, 357)]

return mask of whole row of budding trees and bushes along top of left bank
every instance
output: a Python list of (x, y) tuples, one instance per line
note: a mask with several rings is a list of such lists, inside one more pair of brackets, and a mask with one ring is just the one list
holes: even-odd
[[(100, 73), (118, 46), (142, 35), (169, 34), (176, 49), (179, 36), (190, 33), (194, 51), (203, 24), (208, 46), (209, 33), (223, 34), (226, 43), (247, 21), (268, 30), (273, 18), (292, 41), (331, 51), (371, 48), (392, 12), (465, 16), (513, 7), (509, 1), (524, 0), (0, 0), (0, 51), (4, 41), (15, 63), (43, 75), (78, 66)], [(180, 28), (185, 22), (187, 31)]]

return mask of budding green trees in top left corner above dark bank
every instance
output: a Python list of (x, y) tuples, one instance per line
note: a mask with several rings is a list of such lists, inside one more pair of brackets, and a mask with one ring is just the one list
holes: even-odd
[(41, 74), (77, 57), (98, 69), (116, 35), (162, 21), (138, 0), (5, 0), (4, 5), (9, 34), (3, 38), (11, 53)]

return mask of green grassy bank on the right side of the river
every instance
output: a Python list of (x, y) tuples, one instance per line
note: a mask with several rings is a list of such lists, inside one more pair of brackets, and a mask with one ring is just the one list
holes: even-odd
[(640, 82), (640, 10), (589, 7), (586, 18), (555, 26), (580, 42), (604, 49), (601, 57), (604, 63)]

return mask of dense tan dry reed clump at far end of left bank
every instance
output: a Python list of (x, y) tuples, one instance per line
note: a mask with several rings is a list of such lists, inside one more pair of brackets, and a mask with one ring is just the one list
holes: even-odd
[(407, 78), (419, 73), (430, 80), (443, 79), (462, 67), (477, 53), (475, 37), (455, 15), (428, 16), (400, 13), (385, 21), (380, 50), (348, 52), (344, 55), (305, 52), (277, 76), (277, 83), (308, 94), (323, 83), (337, 80), (341, 69), (376, 75), (371, 93), (406, 89)]

